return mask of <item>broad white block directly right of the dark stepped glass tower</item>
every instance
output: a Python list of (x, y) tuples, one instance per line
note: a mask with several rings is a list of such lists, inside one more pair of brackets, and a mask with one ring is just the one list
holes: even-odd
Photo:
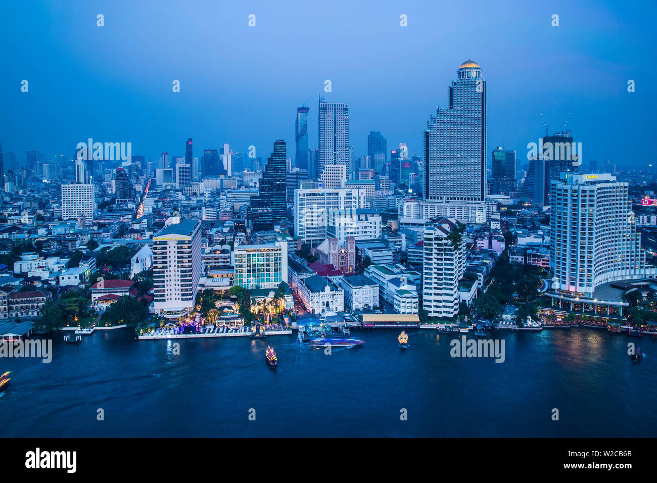
[(317, 246), (326, 239), (327, 212), (365, 208), (363, 189), (310, 188), (294, 191), (294, 234)]

